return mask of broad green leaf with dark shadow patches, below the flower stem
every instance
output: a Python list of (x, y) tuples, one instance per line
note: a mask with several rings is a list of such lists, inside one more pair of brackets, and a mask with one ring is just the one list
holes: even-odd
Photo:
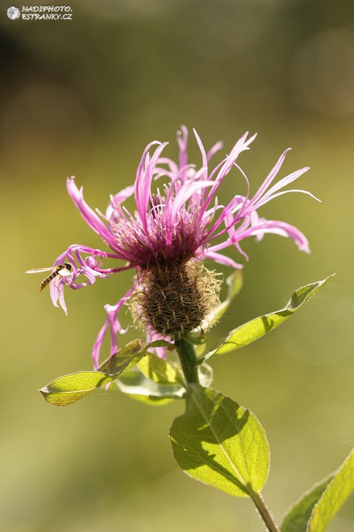
[(234, 495), (252, 497), (268, 477), (269, 450), (256, 416), (213, 389), (190, 384), (185, 414), (170, 438), (187, 475)]

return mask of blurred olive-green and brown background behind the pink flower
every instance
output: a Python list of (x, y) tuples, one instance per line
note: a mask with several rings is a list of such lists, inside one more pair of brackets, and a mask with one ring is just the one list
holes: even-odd
[[(213, 364), (215, 387), (254, 411), (268, 434), (263, 494), (280, 521), (354, 440), (353, 1), (76, 0), (72, 21), (11, 21), (8, 4), (0, 16), (0, 529), (261, 531), (251, 501), (178, 470), (168, 431), (182, 401), (152, 408), (112, 388), (57, 409), (37, 392), (91, 369), (103, 305), (118, 301), (132, 273), (67, 291), (65, 317), (48, 290), (39, 294), (42, 277), (24, 272), (52, 265), (71, 243), (102, 247), (67, 195), (67, 175), (103, 211), (135, 179), (149, 141), (169, 140), (165, 153), (176, 157), (184, 123), (207, 147), (224, 140), (222, 153), (258, 131), (239, 159), (255, 192), (291, 146), (280, 177), (311, 166), (296, 186), (322, 204), (288, 194), (260, 214), (298, 226), (312, 254), (275, 235), (244, 243), (244, 289), (211, 338), (337, 272), (284, 326)], [(190, 154), (200, 164), (193, 141)], [(238, 193), (235, 171), (220, 201)], [(329, 531), (353, 531), (353, 521), (349, 501)]]

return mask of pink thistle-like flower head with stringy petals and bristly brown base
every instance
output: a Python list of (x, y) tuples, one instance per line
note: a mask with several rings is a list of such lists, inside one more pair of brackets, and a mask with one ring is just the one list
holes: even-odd
[[(108, 330), (110, 353), (113, 355), (117, 351), (117, 334), (125, 332), (118, 312), (130, 299), (135, 315), (139, 315), (146, 326), (148, 340), (166, 337), (176, 340), (186, 331), (198, 327), (216, 304), (219, 289), (219, 282), (202, 261), (211, 259), (232, 268), (242, 267), (219, 253), (221, 250), (234, 246), (248, 260), (241, 249), (241, 240), (249, 236), (261, 240), (265, 233), (275, 233), (292, 238), (299, 250), (309, 253), (307, 238), (297, 228), (283, 221), (260, 218), (257, 212), (268, 201), (287, 192), (304, 192), (312, 196), (305, 190), (282, 190), (308, 167), (292, 172), (270, 186), (285, 159), (288, 151), (285, 150), (256, 194), (250, 196), (249, 181), (236, 159), (241, 152), (249, 150), (256, 135), (247, 138), (248, 133), (245, 133), (229, 155), (210, 170), (210, 159), (222, 148), (222, 143), (217, 143), (206, 153), (198, 134), (195, 131), (194, 134), (202, 158), (201, 167), (188, 163), (188, 131), (183, 126), (177, 134), (178, 163), (162, 157), (167, 143), (154, 141), (147, 145), (137, 168), (135, 184), (110, 196), (105, 214), (93, 211), (86, 204), (83, 189), (76, 187), (74, 177), (67, 179), (69, 196), (110, 252), (74, 244), (59, 255), (54, 267), (69, 262), (72, 275), (59, 277), (50, 284), (53, 304), (58, 306), (59, 302), (67, 314), (63, 292), (66, 284), (78, 289), (93, 284), (97, 277), (108, 277), (130, 268), (137, 272), (127, 294), (117, 304), (105, 305), (107, 317), (93, 345), (95, 368)], [(219, 205), (217, 190), (235, 167), (246, 180), (246, 195), (234, 194), (227, 205)], [(153, 192), (152, 182), (158, 184), (159, 180), (164, 182), (160, 188), (154, 187)], [(136, 210), (130, 212), (123, 203), (133, 194)], [(216, 238), (218, 243), (214, 243)], [(103, 268), (106, 257), (124, 260), (125, 265)], [(79, 275), (84, 275), (87, 282), (77, 282)]]

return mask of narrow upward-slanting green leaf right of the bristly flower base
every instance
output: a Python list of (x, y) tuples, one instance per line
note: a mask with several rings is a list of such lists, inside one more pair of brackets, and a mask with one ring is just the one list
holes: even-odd
[(314, 282), (312, 284), (307, 284), (305, 287), (297, 289), (290, 301), (279, 311), (271, 312), (270, 314), (265, 314), (259, 318), (255, 318), (244, 325), (236, 328), (231, 336), (224, 340), (217, 348), (213, 349), (206, 355), (202, 357), (201, 362), (205, 362), (209, 358), (214, 358), (219, 355), (224, 355), (230, 351), (243, 348), (245, 345), (248, 345), (261, 336), (264, 336), (266, 333), (273, 331), (276, 327), (280, 326), (284, 321), (286, 321), (290, 316), (295, 314), (301, 307), (309, 301), (309, 299), (316, 294), (316, 292), (326, 284), (326, 282), (331, 279), (333, 275), (330, 275), (323, 281)]

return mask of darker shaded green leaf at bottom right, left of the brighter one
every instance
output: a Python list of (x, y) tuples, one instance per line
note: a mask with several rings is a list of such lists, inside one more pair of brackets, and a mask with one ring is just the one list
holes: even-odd
[(307, 523), (314, 509), (314, 505), (319, 501), (332, 479), (333, 477), (329, 477), (323, 480), (320, 484), (312, 487), (309, 492), (302, 495), (301, 499), (285, 515), (280, 528), (281, 532), (307, 532)]

